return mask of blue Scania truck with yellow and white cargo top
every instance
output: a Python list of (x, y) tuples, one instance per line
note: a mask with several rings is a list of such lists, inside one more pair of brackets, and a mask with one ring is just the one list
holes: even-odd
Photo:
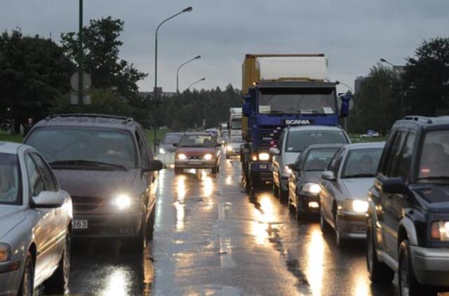
[[(246, 191), (272, 182), (272, 154), (287, 126), (337, 126), (349, 95), (337, 104), (337, 82), (319, 54), (247, 54), (242, 65), (242, 178)], [(339, 112), (340, 109), (340, 112)]]

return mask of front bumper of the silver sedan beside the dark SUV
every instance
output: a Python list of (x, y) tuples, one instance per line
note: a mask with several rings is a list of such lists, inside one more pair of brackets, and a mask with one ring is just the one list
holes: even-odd
[(366, 238), (366, 213), (341, 211), (337, 215), (340, 222), (340, 236), (342, 238)]

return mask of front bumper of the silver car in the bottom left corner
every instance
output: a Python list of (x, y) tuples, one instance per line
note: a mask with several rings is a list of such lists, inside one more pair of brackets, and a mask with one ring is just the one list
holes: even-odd
[[(15, 296), (18, 294), (20, 281), (22, 281), (22, 261), (20, 259), (0, 263), (0, 296)], [(13, 267), (13, 264), (15, 267)]]

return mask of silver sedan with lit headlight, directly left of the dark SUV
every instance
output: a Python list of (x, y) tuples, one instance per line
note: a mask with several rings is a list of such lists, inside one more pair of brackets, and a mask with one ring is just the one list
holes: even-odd
[(345, 145), (321, 175), (321, 230), (332, 227), (339, 248), (349, 239), (366, 238), (368, 189), (373, 185), (383, 148), (383, 142)]

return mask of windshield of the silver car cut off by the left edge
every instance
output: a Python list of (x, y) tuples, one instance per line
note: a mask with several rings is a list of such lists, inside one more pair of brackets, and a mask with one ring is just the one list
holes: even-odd
[(20, 173), (14, 154), (0, 153), (0, 204), (20, 203)]

